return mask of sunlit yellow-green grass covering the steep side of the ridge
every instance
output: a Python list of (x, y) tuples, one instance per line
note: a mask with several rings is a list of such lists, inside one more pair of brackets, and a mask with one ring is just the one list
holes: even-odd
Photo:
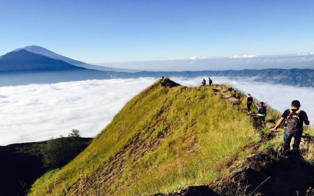
[(169, 193), (208, 184), (245, 146), (260, 140), (250, 117), (211, 88), (163, 82), (167, 88), (157, 81), (131, 99), (82, 153), (38, 179), (29, 195), (47, 195), (47, 187), (64, 195), (64, 183), (77, 188), (80, 171), (86, 175), (93, 166), (100, 167), (110, 195)]

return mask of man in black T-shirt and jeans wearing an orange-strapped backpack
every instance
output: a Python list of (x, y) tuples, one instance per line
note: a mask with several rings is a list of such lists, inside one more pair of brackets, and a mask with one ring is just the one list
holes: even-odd
[(294, 137), (292, 145), (293, 151), (299, 149), (303, 133), (303, 123), (306, 125), (310, 124), (306, 112), (300, 110), (300, 106), (301, 105), (298, 100), (292, 101), (291, 109), (284, 111), (281, 118), (273, 128), (273, 131), (275, 132), (284, 119), (286, 119), (284, 125), (284, 152), (290, 151), (290, 142), (292, 137)]

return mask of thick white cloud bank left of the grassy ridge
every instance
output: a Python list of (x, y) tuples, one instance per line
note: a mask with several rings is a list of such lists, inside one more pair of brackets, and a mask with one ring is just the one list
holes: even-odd
[(72, 129), (94, 137), (155, 78), (0, 87), (0, 145), (47, 140)]

